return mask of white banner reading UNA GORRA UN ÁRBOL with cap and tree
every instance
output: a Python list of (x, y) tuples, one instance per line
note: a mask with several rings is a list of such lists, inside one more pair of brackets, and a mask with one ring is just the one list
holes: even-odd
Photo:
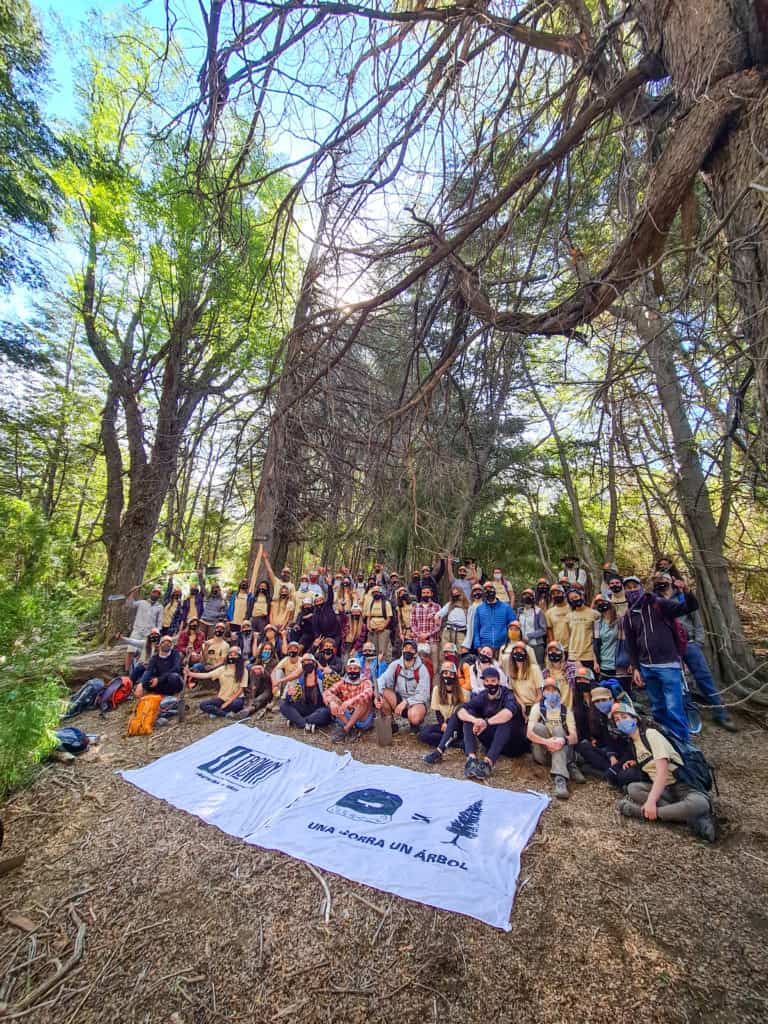
[(509, 930), (520, 853), (548, 803), (352, 761), (247, 842)]

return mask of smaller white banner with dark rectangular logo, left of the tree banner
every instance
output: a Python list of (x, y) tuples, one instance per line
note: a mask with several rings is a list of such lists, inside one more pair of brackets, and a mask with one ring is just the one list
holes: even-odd
[(230, 725), (120, 774), (229, 836), (245, 838), (350, 760), (348, 754)]

